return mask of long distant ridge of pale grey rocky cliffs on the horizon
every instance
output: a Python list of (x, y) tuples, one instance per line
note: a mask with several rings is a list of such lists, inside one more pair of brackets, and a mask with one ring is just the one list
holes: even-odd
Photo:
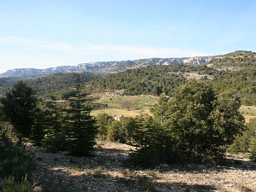
[(194, 57), (181, 57), (181, 58), (148, 58), (139, 60), (127, 61), (96, 61), (89, 63), (80, 63), (77, 66), (59, 66), (48, 67), (44, 69), (38, 68), (15, 68), (10, 69), (5, 73), (0, 73), (0, 78), (15, 78), (26, 77), (40, 74), (51, 73), (96, 73), (108, 74), (118, 73), (126, 69), (148, 67), (152, 65), (201, 65), (207, 61), (211, 61), (216, 56), (194, 56)]

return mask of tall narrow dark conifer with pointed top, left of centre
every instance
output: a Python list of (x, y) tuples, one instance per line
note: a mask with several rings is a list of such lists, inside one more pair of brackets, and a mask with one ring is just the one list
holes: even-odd
[(70, 154), (88, 156), (92, 154), (96, 144), (96, 120), (90, 116), (90, 108), (81, 84), (75, 87), (76, 95), (69, 98), (70, 108), (67, 109), (67, 144)]

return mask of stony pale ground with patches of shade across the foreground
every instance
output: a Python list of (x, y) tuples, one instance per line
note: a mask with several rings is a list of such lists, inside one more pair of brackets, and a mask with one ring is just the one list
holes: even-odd
[(119, 143), (98, 143), (94, 157), (73, 157), (65, 152), (36, 154), (33, 172), (38, 192), (113, 191), (256, 191), (256, 163), (234, 158), (227, 166), (159, 165), (154, 170), (124, 166), (132, 148)]

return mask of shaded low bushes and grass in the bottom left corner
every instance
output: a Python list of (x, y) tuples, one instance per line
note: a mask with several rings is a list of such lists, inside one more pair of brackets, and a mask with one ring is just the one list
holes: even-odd
[(32, 192), (32, 171), (36, 160), (32, 152), (16, 146), (13, 129), (1, 122), (0, 127), (0, 190)]

